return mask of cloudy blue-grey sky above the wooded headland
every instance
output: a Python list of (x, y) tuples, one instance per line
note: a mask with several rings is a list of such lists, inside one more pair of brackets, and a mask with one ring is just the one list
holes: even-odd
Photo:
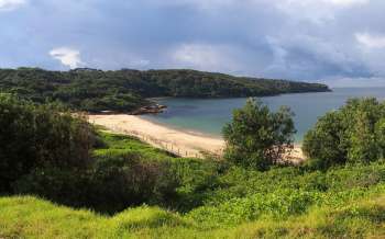
[(385, 86), (384, 0), (0, 0), (0, 68)]

